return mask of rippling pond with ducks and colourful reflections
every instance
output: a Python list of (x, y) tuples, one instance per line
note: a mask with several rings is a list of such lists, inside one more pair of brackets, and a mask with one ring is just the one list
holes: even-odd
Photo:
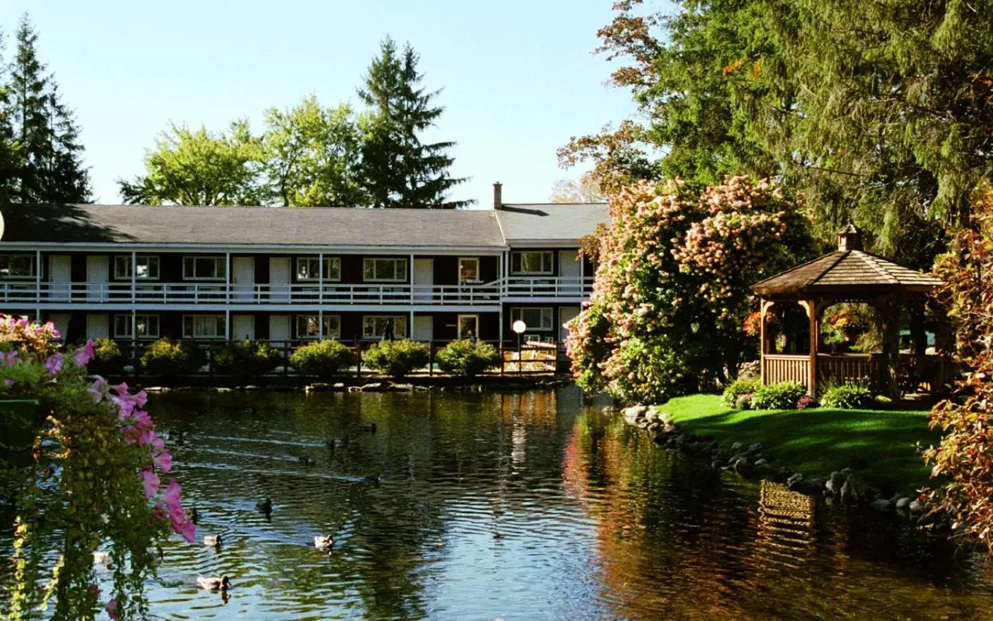
[[(574, 388), (153, 396), (159, 428), (184, 432), (175, 476), (200, 512), (198, 538), (221, 545), (174, 537), (149, 585), (152, 613), (990, 616), (984, 555), (669, 454), (600, 405), (583, 406)], [(269, 517), (255, 509), (265, 497)], [(330, 554), (313, 546), (325, 534)], [(197, 589), (198, 575), (220, 574), (233, 584), (226, 597)]]

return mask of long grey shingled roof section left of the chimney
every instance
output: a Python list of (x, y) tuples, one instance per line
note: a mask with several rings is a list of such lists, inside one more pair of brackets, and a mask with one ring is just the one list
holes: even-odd
[(11, 205), (4, 242), (502, 247), (489, 209)]

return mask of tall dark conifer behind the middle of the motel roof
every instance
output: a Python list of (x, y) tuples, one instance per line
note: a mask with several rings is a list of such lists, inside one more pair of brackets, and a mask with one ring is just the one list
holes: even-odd
[(408, 44), (403, 52), (386, 38), (369, 64), (358, 96), (371, 108), (362, 120), (361, 183), (373, 207), (457, 208), (470, 200), (447, 200), (447, 192), (466, 179), (454, 179), (454, 142), (424, 144), (420, 134), (432, 127), (445, 108), (432, 102), (441, 92), (419, 84), (418, 56)]

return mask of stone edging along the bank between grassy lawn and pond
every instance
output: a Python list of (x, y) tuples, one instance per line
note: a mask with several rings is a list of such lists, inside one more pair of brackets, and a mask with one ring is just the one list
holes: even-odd
[[(613, 408), (607, 408), (617, 412)], [(685, 433), (672, 423), (671, 416), (658, 406), (632, 406), (621, 411), (628, 425), (650, 435), (652, 440), (666, 450), (709, 456), (710, 465), (722, 470), (733, 470), (744, 478), (769, 479), (782, 483), (786, 488), (821, 498), (829, 503), (840, 502), (846, 506), (867, 506), (882, 513), (894, 513), (907, 518), (912, 524), (933, 525), (933, 530), (944, 531), (948, 525), (920, 499), (897, 494), (886, 498), (879, 489), (868, 485), (862, 475), (852, 468), (831, 472), (827, 476), (803, 475), (787, 466), (777, 466), (772, 455), (763, 452), (759, 442), (744, 446), (735, 442), (722, 448), (713, 436)]]

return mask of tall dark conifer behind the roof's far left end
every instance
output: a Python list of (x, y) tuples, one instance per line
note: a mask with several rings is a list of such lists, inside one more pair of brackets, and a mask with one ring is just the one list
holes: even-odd
[[(38, 60), (38, 33), (21, 18), (4, 107), (16, 148), (10, 199), (21, 203), (84, 202), (89, 176), (71, 111)], [(3, 103), (3, 102), (0, 102)]]

